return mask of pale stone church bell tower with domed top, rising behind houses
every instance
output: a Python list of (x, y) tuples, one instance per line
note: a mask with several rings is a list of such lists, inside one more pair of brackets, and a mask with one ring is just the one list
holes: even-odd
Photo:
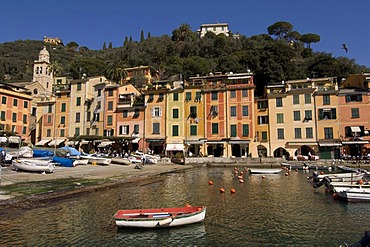
[(39, 82), (44, 87), (45, 93), (52, 93), (53, 90), (53, 71), (49, 58), (50, 54), (44, 46), (39, 53), (39, 60), (35, 60), (33, 65), (33, 82)]

